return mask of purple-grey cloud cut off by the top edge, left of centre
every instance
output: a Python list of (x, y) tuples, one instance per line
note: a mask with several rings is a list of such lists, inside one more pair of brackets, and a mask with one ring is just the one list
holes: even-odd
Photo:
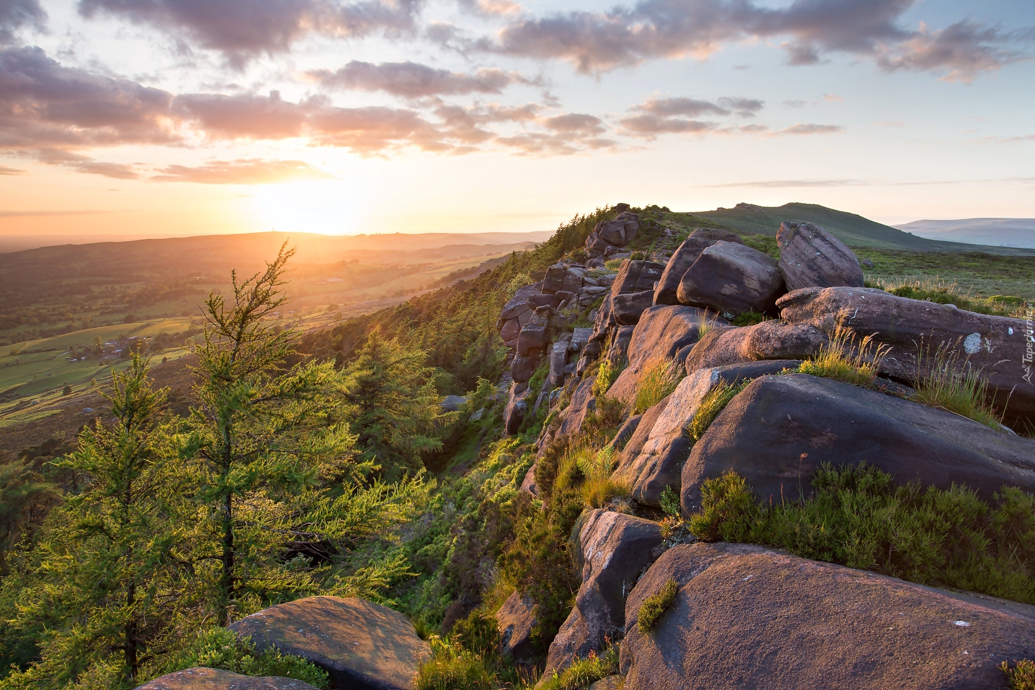
[(310, 32), (355, 38), (416, 29), (421, 0), (80, 0), (79, 11), (123, 17), (223, 53), (243, 66), (262, 54), (285, 53)]

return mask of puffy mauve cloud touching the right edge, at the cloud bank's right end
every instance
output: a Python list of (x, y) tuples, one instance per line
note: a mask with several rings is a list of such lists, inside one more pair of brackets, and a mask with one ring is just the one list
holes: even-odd
[(1011, 41), (1031, 40), (1028, 33), (1004, 33), (970, 20), (956, 22), (940, 31), (923, 24), (908, 40), (882, 50), (877, 59), (884, 71), (912, 69), (944, 72), (947, 82), (972, 82), (981, 72), (1029, 60), (1031, 52), (1004, 48)]

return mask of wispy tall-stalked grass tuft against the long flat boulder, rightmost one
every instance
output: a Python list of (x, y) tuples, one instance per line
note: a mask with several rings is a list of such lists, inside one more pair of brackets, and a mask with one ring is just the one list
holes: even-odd
[(959, 346), (956, 340), (955, 348), (943, 342), (934, 354), (929, 348), (921, 351), (920, 374), (910, 399), (963, 415), (994, 429), (1002, 428), (1002, 417), (987, 402), (988, 380), (967, 359), (960, 360)]

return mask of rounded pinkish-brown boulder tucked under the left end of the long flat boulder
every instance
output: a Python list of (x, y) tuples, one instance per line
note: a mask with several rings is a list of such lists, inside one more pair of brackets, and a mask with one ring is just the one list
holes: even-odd
[(827, 334), (810, 324), (763, 321), (743, 328), (716, 327), (693, 346), (683, 369), (722, 366), (761, 359), (808, 359), (827, 342)]

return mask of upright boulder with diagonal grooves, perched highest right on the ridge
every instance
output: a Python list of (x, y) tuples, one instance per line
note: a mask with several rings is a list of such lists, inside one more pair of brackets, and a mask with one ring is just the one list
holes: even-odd
[(810, 222), (781, 222), (776, 231), (779, 272), (788, 291), (862, 288), (859, 259), (836, 237)]

